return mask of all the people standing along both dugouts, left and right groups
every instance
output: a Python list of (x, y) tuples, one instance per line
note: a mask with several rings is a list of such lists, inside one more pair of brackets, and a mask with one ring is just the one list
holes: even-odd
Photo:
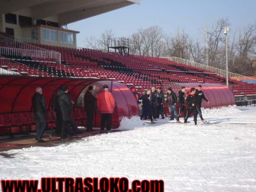
[[(134, 94), (135, 95), (135, 94)], [(136, 99), (139, 99), (138, 95)], [(176, 120), (180, 123), (180, 115), (184, 113), (184, 123), (188, 123), (188, 118), (193, 113), (195, 125), (197, 124), (197, 116), (199, 114), (202, 122), (204, 118), (202, 116), (201, 104), (202, 100), (209, 102), (202, 92), (202, 86), (198, 85), (197, 88), (191, 88), (186, 95), (186, 88), (182, 86), (179, 91), (179, 95), (173, 92), (172, 88), (166, 90), (166, 97), (161, 88), (147, 89), (141, 96), (142, 100), (142, 115), (141, 120), (150, 119), (152, 123), (156, 122), (157, 118), (164, 119), (164, 102), (167, 103), (170, 112), (170, 120)], [(177, 105), (179, 105), (179, 111), (177, 111)], [(56, 115), (56, 135), (60, 136), (62, 140), (67, 138), (70, 134), (79, 134), (79, 131), (74, 118), (72, 118), (72, 108), (74, 101), (70, 99), (68, 95), (68, 87), (64, 84), (60, 86), (60, 89), (54, 95), (54, 102), (52, 109)], [(102, 92), (98, 93), (93, 86), (89, 86), (84, 93), (84, 109), (86, 111), (86, 131), (93, 131), (93, 116), (96, 113), (100, 113), (100, 132), (106, 130), (111, 131), (112, 114), (114, 112), (116, 103), (112, 93), (109, 92), (108, 85), (103, 86)], [(34, 118), (36, 120), (36, 140), (44, 142), (42, 137), (47, 127), (47, 107), (45, 104), (45, 98), (42, 88), (36, 88), (35, 94), (32, 97), (32, 109)], [(72, 127), (72, 130), (70, 129)]]

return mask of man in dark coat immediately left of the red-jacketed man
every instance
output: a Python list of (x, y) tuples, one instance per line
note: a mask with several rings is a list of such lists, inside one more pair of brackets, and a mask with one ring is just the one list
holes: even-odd
[(84, 108), (86, 111), (87, 116), (87, 123), (86, 123), (86, 131), (90, 132), (93, 131), (92, 129), (92, 121), (93, 121), (93, 114), (95, 112), (96, 107), (96, 98), (92, 95), (93, 86), (89, 86), (88, 90), (84, 94)]

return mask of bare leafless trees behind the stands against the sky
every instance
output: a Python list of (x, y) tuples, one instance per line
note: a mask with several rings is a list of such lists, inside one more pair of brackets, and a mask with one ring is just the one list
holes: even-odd
[[(225, 70), (225, 35), (227, 19), (220, 19), (207, 30), (209, 65)], [(112, 30), (106, 30), (97, 40), (86, 38), (86, 46), (93, 49), (108, 50), (108, 38), (113, 38)], [(194, 40), (184, 30), (177, 30), (175, 35), (166, 35), (163, 28), (152, 26), (140, 28), (129, 38), (131, 54), (143, 56), (176, 56), (197, 63), (206, 63), (204, 40)], [(228, 65), (231, 72), (243, 75), (255, 75), (256, 58), (256, 23), (228, 36)], [(254, 64), (253, 64), (254, 61)]]

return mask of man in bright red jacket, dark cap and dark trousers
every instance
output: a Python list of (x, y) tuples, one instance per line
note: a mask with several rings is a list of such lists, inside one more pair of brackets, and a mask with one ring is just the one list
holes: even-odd
[(115, 98), (109, 92), (108, 85), (103, 86), (103, 91), (97, 96), (97, 108), (101, 113), (100, 132), (104, 132), (104, 127), (107, 124), (107, 131), (111, 131), (112, 114), (115, 108)]

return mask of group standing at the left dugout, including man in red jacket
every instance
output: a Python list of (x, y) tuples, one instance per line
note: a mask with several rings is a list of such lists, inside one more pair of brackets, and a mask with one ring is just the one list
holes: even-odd
[[(103, 86), (102, 92), (99, 94), (93, 93), (93, 86), (89, 86), (84, 94), (84, 109), (86, 111), (86, 131), (92, 132), (93, 115), (95, 112), (100, 113), (100, 132), (104, 132), (106, 126), (107, 131), (111, 131), (112, 114), (115, 109), (115, 98), (109, 92), (108, 85)], [(54, 96), (52, 109), (56, 115), (56, 135), (61, 137), (61, 140), (67, 139), (67, 135), (79, 134), (79, 131), (74, 118), (72, 118), (72, 108), (74, 101), (68, 95), (68, 87), (64, 84)], [(44, 131), (47, 127), (47, 107), (42, 88), (38, 87), (32, 97), (32, 109), (36, 121), (36, 140), (44, 142), (42, 139)], [(72, 130), (70, 129), (72, 127)]]

